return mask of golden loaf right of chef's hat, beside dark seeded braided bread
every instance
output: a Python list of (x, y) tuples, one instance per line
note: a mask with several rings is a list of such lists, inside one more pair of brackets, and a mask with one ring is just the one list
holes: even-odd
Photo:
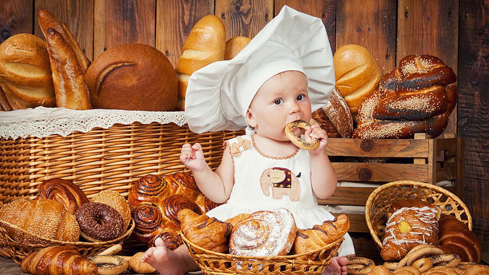
[(333, 63), (335, 86), (356, 117), (363, 100), (377, 89), (382, 70), (366, 48), (355, 44), (338, 48)]

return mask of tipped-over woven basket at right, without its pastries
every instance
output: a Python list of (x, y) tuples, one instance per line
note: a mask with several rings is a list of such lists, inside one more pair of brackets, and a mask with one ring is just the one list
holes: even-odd
[(467, 206), (452, 192), (430, 183), (413, 181), (386, 183), (375, 189), (365, 204), (367, 227), (378, 249), (382, 248), (382, 242), (375, 228), (379, 225), (385, 226), (391, 204), (402, 199), (420, 199), (439, 206), (443, 214), (455, 216), (472, 230), (472, 216)]

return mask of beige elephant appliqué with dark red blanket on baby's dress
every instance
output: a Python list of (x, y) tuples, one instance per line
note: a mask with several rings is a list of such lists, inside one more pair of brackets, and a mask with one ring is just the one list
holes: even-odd
[(299, 201), (299, 180), (287, 168), (266, 169), (260, 178), (260, 185), (267, 197), (270, 195), (271, 187), (274, 199), (281, 199), (284, 195), (289, 195), (291, 201)]

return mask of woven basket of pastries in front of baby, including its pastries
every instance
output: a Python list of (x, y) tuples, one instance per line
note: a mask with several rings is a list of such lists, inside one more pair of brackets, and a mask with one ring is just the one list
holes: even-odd
[(320, 274), (350, 227), (348, 217), (340, 215), (312, 229), (297, 229), (285, 208), (224, 222), (183, 209), (178, 218), (183, 243), (203, 274), (221, 275)]

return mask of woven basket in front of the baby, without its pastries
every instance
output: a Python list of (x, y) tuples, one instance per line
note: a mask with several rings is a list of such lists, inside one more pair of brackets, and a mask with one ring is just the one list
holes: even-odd
[[(180, 233), (180, 236), (182, 237), (183, 243), (187, 246), (190, 255), (202, 270), (202, 273), (215, 275), (321, 274), (331, 262), (331, 258), (336, 254), (345, 239), (341, 237), (322, 248), (297, 255), (251, 257), (209, 251), (193, 244), (182, 233)], [(317, 254), (314, 261), (297, 259), (301, 256), (311, 254)]]

